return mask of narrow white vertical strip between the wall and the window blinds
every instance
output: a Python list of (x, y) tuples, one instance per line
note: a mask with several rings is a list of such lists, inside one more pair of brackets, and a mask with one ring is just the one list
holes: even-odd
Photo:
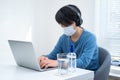
[(106, 49), (109, 47), (109, 41), (106, 40), (106, 36), (108, 36), (108, 3), (109, 0), (95, 1), (95, 33), (97, 34), (98, 45)]

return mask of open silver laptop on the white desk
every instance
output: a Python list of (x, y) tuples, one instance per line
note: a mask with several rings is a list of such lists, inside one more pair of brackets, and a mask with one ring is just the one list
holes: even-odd
[(41, 69), (39, 66), (39, 61), (31, 42), (15, 40), (8, 40), (8, 42), (17, 65), (37, 71), (45, 71), (45, 69)]

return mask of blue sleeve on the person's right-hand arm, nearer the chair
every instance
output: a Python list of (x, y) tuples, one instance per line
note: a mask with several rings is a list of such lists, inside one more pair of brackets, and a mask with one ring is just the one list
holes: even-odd
[(85, 43), (82, 55), (77, 58), (77, 67), (84, 69), (87, 68), (93, 58), (96, 46), (95, 36), (89, 37)]

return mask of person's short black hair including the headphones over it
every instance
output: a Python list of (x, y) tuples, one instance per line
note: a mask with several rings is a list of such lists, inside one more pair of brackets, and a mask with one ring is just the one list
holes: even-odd
[(66, 5), (60, 8), (55, 15), (55, 19), (64, 26), (71, 25), (73, 21), (76, 23), (76, 26), (81, 26), (83, 23), (81, 12), (75, 5)]

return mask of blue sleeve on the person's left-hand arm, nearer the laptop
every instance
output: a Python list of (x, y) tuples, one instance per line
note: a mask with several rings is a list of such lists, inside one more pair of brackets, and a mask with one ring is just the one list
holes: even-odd
[(62, 53), (62, 36), (59, 38), (56, 46), (52, 50), (52, 52), (48, 55), (49, 59), (56, 60), (57, 59), (57, 53)]

